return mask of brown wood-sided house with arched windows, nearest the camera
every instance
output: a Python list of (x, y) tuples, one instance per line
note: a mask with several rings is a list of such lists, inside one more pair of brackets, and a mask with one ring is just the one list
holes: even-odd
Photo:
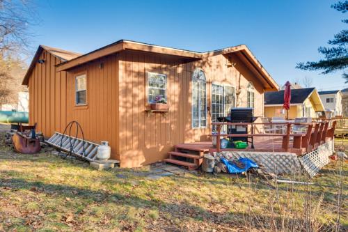
[[(212, 121), (231, 107), (264, 115), (274, 79), (246, 47), (192, 52), (142, 42), (117, 42), (80, 55), (40, 46), (23, 84), (29, 120), (46, 137), (78, 121), (84, 137), (109, 141), (121, 167), (164, 160), (173, 145), (210, 141)], [(153, 111), (160, 95), (168, 111)]]

